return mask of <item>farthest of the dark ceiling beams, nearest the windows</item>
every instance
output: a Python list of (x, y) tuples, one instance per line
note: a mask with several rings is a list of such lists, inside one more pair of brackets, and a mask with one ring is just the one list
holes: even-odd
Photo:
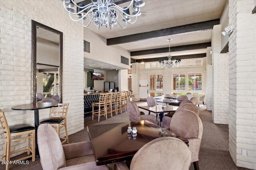
[[(174, 59), (197, 59), (197, 58), (203, 58), (206, 57), (206, 53), (203, 54), (191, 54), (191, 55), (179, 55), (179, 56), (173, 56)], [(152, 58), (152, 59), (143, 59), (144, 62), (154, 62), (159, 61), (160, 59), (166, 60), (167, 57), (158, 57), (158, 58)], [(141, 63), (142, 59), (135, 60), (136, 63)]]

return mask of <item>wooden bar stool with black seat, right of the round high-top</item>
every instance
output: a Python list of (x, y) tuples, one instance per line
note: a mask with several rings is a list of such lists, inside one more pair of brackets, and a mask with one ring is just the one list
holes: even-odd
[(68, 140), (68, 129), (67, 129), (67, 114), (68, 114), (68, 105), (69, 104), (58, 104), (58, 107), (52, 107), (51, 113), (52, 117), (44, 119), (40, 122), (40, 124), (48, 123), (52, 127), (56, 128), (57, 134), (60, 137), (60, 129), (65, 128), (66, 137), (60, 137), (60, 139), (64, 139), (61, 143), (64, 143)]

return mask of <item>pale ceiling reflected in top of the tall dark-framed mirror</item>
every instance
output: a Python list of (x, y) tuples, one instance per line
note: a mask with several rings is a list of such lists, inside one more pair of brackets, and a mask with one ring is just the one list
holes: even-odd
[(40, 27), (36, 29), (36, 36), (42, 39), (46, 39), (48, 41), (52, 41), (54, 43), (60, 42), (60, 35)]

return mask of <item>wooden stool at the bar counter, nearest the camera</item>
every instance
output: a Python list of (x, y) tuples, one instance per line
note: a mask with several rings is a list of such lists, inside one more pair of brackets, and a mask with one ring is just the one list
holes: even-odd
[[(98, 122), (100, 121), (100, 116), (104, 115), (106, 116), (106, 119), (108, 119), (108, 116), (106, 115), (107, 111), (106, 111), (106, 99), (107, 99), (107, 94), (106, 93), (100, 93), (99, 96), (99, 101), (98, 102), (92, 102), (92, 120), (93, 120), (93, 116), (94, 115), (98, 115)], [(96, 113), (94, 111), (94, 107), (98, 107), (98, 113)], [(103, 109), (101, 109), (101, 107), (103, 107)], [(101, 111), (103, 111), (102, 114)]]

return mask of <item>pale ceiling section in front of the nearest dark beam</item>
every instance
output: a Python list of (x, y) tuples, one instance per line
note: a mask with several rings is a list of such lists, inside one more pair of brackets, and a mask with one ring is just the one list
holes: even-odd
[[(202, 21), (220, 18), (226, 0), (143, 0), (145, 6), (142, 12), (147, 12), (145, 17), (138, 17), (134, 24), (128, 24), (126, 29), (119, 25), (110, 28), (90, 24), (88, 29), (105, 38), (120, 37), (135, 33), (154, 31), (179, 25), (197, 23)], [(128, 6), (129, 2), (121, 4), (121, 7)], [(130, 10), (130, 13), (132, 10)]]

